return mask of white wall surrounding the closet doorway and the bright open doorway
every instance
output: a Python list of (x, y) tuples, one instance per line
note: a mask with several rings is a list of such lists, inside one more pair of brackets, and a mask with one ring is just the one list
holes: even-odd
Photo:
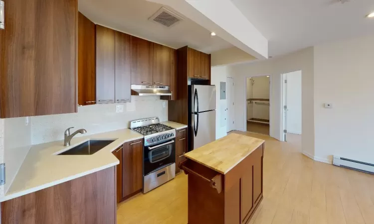
[[(313, 47), (303, 49), (279, 58), (230, 66), (230, 74), (235, 83), (235, 123), (236, 129), (245, 130), (245, 85), (246, 77), (272, 75), (270, 112), (270, 135), (281, 139), (281, 74), (302, 70), (302, 150), (314, 154), (314, 64)], [(278, 110), (276, 110), (278, 109)]]

